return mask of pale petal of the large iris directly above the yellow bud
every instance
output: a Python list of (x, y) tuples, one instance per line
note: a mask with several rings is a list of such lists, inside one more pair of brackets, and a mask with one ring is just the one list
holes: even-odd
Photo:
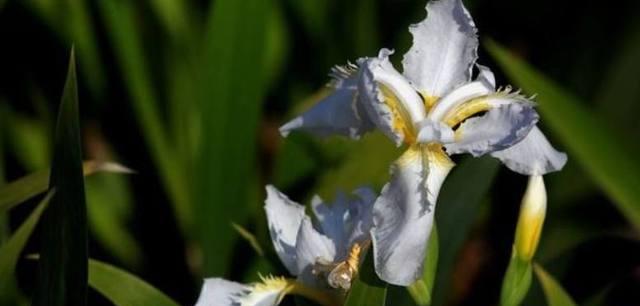
[(509, 169), (524, 175), (543, 175), (559, 171), (567, 163), (567, 155), (556, 151), (538, 127), (512, 147), (491, 153)]

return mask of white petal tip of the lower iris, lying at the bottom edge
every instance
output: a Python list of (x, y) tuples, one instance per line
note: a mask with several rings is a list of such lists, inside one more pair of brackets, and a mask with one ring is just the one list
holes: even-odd
[(250, 286), (222, 278), (207, 278), (202, 285), (196, 306), (240, 305), (240, 297), (248, 293), (250, 289)]

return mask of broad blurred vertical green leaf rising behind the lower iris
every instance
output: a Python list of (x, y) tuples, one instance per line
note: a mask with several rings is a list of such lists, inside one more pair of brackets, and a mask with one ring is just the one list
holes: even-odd
[(245, 220), (252, 208), (270, 2), (218, 0), (208, 19), (194, 183), (206, 275), (227, 272), (236, 238), (229, 221)]

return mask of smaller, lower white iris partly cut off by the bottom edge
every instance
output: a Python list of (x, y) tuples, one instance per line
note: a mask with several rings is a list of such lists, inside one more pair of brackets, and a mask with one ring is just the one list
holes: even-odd
[(376, 194), (360, 188), (350, 197), (338, 194), (330, 205), (315, 196), (311, 202), (314, 223), (303, 205), (273, 186), (266, 189), (271, 240), (285, 268), (297, 278), (263, 277), (261, 283), (248, 285), (209, 278), (196, 306), (277, 305), (287, 294), (335, 305), (350, 288), (370, 244)]

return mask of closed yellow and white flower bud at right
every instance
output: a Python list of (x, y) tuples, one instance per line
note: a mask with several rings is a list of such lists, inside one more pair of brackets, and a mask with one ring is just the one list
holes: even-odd
[(520, 205), (515, 239), (517, 255), (525, 261), (531, 261), (536, 253), (546, 212), (547, 192), (542, 176), (531, 176)]

